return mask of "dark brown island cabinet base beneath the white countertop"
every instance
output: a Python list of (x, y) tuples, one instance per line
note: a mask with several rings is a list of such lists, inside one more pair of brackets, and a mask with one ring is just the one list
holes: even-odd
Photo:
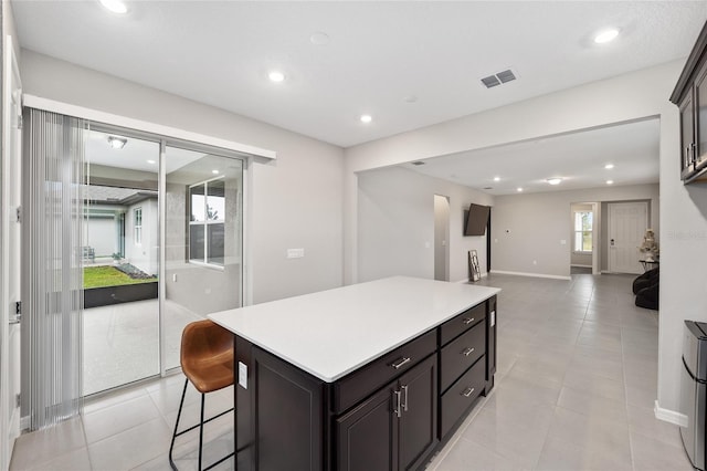
[(424, 469), (494, 386), (495, 324), (492, 296), (333, 383), (236, 335), (238, 469)]

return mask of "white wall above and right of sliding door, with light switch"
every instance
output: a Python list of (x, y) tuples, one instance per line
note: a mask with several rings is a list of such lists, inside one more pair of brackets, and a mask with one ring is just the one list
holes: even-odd
[[(32, 95), (275, 150), (247, 174), (252, 302), (342, 284), (340, 147), (32, 51), (20, 72)], [(292, 248), (305, 257), (286, 259)]]

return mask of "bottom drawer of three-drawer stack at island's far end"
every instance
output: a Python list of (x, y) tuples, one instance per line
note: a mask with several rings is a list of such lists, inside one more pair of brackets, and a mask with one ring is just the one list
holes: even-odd
[(485, 366), (486, 362), (484, 362), (483, 358), (479, 359), (442, 395), (440, 405), (440, 439), (444, 439), (484, 390)]

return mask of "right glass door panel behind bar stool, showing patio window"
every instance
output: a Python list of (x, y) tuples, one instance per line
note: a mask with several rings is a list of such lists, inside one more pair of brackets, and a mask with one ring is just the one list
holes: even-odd
[(238, 158), (167, 146), (165, 366), (179, 366), (184, 325), (242, 305), (242, 180)]

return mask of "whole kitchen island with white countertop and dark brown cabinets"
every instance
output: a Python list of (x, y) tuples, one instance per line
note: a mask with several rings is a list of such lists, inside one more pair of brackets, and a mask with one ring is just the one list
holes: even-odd
[(499, 291), (393, 276), (209, 315), (235, 338), (238, 469), (423, 467), (493, 388)]

